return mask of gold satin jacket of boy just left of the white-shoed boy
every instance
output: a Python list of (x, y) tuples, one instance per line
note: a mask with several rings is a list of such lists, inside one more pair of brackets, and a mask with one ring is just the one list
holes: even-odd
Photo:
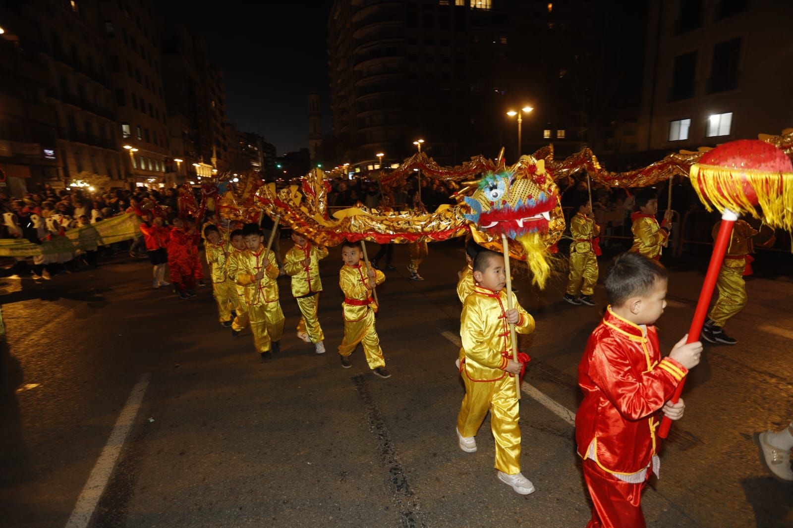
[[(278, 264), (275, 253), (267, 252), (264, 263), (264, 246), (257, 251), (238, 251), (228, 260), (228, 277), (245, 287), (245, 302), (248, 306), (261, 306), (265, 303), (278, 301)], [(264, 270), (261, 281), (255, 279), (259, 270)], [(257, 288), (258, 286), (258, 288)]]

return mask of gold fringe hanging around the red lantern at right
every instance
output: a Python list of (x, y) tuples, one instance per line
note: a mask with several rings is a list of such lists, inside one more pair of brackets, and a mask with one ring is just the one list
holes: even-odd
[[(772, 228), (793, 231), (793, 173), (769, 174), (695, 163), (691, 166), (691, 184), (708, 211), (730, 209), (752, 215)], [(746, 197), (745, 185), (757, 195), (760, 212)]]

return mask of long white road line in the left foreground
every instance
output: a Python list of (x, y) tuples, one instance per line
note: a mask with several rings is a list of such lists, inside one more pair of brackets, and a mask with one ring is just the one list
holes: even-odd
[(118, 455), (121, 453), (121, 447), (124, 446), (129, 430), (132, 429), (132, 424), (135, 423), (135, 418), (140, 410), (140, 402), (144, 399), (144, 393), (148, 387), (150, 377), (151, 374), (144, 374), (132, 388), (127, 403), (121, 409), (116, 425), (110, 433), (110, 438), (108, 438), (102, 454), (99, 455), (94, 469), (91, 470), (91, 474), (88, 476), (86, 485), (82, 488), (82, 492), (77, 498), (77, 504), (74, 511), (71, 512), (66, 528), (88, 526), (99, 499), (102, 497), (102, 493), (105, 492), (105, 486), (110, 480), (110, 475), (113, 474), (113, 468), (116, 466)]

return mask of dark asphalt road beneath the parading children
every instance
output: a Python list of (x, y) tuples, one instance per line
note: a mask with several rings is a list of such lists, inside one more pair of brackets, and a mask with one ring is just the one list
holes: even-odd
[[(523, 473), (537, 488), (524, 497), (496, 480), (487, 420), (477, 453), (454, 434), (462, 242), (431, 245), (422, 282), (408, 280), (406, 247), (394, 263), (378, 288), (388, 380), (360, 349), (352, 369), (339, 364), (338, 248), (321, 267), (328, 354), (296, 339), (282, 277), (286, 330), (268, 364), (247, 331), (232, 339), (220, 327), (208, 288), (188, 301), (151, 289), (144, 260), (41, 285), (3, 279), (0, 524), (64, 526), (138, 392), (91, 526), (584, 526), (588, 498), (560, 409), (580, 401), (577, 363), (602, 288), (599, 307), (576, 307), (561, 301), (563, 281), (538, 294), (515, 274), (537, 319), (522, 342), (526, 381), (551, 400), (523, 396)], [(704, 267), (670, 266), (665, 351), (688, 329)], [(793, 526), (793, 487), (764, 473), (752, 442), (793, 417), (793, 283), (755, 277), (747, 289), (749, 305), (726, 327), (739, 344), (707, 346), (686, 385), (662, 478), (644, 495), (649, 526)]]

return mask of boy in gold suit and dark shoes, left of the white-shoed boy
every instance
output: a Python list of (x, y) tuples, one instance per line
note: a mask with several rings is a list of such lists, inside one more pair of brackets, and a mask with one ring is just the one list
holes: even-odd
[(246, 251), (233, 254), (228, 262), (228, 276), (245, 287), (248, 322), (253, 343), (262, 361), (271, 361), (272, 352), (281, 350), (284, 313), (278, 302), (278, 264), (273, 251), (264, 247), (264, 234), (258, 224), (243, 228)]

